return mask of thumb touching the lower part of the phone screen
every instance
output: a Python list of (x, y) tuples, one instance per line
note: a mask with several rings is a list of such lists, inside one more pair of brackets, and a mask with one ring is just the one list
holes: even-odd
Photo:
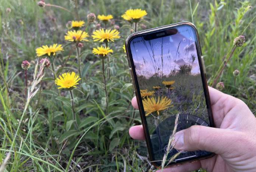
[(209, 151), (224, 154), (238, 144), (239, 135), (230, 129), (194, 125), (175, 134), (174, 147), (180, 151)]

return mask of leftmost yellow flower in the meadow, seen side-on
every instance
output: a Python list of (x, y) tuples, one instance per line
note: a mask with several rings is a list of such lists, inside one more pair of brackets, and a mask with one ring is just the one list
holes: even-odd
[(51, 54), (53, 56), (55, 56), (56, 53), (58, 53), (59, 51), (64, 51), (63, 47), (61, 44), (53, 44), (52, 46), (42, 46), (39, 48), (36, 48), (36, 54), (37, 57), (41, 57), (45, 54), (47, 54), (48, 56), (50, 56)]

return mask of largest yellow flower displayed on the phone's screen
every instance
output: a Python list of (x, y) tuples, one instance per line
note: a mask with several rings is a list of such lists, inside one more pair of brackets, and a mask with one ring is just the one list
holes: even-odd
[(156, 98), (147, 98), (143, 99), (143, 106), (144, 106), (144, 111), (146, 111), (146, 116), (150, 115), (150, 113), (157, 112), (157, 115), (160, 114), (160, 111), (163, 111), (172, 105), (170, 103), (172, 100), (162, 97), (158, 97), (158, 100), (156, 101)]

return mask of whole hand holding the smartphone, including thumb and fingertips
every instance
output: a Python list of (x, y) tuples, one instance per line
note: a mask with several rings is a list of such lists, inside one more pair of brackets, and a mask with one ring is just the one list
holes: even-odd
[[(216, 128), (191, 126), (175, 135), (175, 148), (181, 151), (210, 151), (206, 160), (166, 168), (165, 172), (186, 172), (200, 168), (208, 172), (256, 171), (256, 118), (242, 100), (208, 87)], [(138, 109), (136, 98), (132, 106)], [(132, 126), (129, 134), (144, 140), (143, 126)]]

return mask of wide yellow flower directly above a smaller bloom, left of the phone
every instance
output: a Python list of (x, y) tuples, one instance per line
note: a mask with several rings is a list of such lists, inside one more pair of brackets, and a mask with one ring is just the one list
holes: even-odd
[(100, 42), (103, 42), (103, 41), (109, 42), (109, 40), (114, 41), (115, 39), (120, 38), (119, 31), (103, 30), (103, 29), (94, 31), (92, 37), (94, 41), (100, 41)]

